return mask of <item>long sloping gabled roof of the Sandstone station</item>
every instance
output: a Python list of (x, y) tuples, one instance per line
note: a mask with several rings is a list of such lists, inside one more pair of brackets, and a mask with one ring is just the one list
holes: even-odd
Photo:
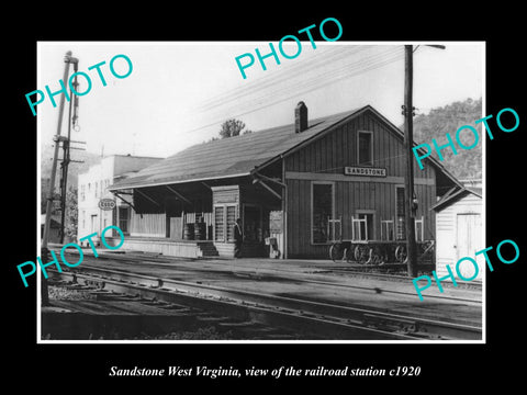
[[(403, 138), (402, 132), (377, 112), (372, 106), (333, 114), (309, 122), (309, 128), (294, 133), (294, 124), (272, 127), (242, 136), (229, 137), (198, 144), (138, 171), (125, 180), (110, 187), (111, 191), (123, 189), (166, 185), (180, 182), (202, 181), (218, 178), (249, 176), (273, 160), (292, 153), (329, 132), (332, 126), (347, 122), (365, 111), (372, 111), (383, 120), (393, 132)], [(449, 174), (434, 158), (436, 165), (455, 183)]]

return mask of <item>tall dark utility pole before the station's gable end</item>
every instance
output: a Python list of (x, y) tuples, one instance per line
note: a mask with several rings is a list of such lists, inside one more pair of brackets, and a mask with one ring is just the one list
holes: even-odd
[(415, 242), (415, 211), (414, 199), (414, 162), (412, 146), (414, 144), (414, 106), (413, 106), (413, 46), (404, 46), (404, 149), (406, 151), (406, 174), (404, 185), (404, 217), (406, 227), (406, 255), (408, 276), (417, 276), (417, 246)]

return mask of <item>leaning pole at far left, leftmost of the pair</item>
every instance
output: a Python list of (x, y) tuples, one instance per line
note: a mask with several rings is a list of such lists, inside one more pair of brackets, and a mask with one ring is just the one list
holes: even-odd
[[(78, 63), (77, 58), (71, 57), (71, 52), (68, 50), (64, 57), (65, 66), (64, 66), (64, 77), (63, 81), (66, 83), (68, 81), (69, 76), (69, 64)], [(44, 234), (42, 236), (42, 245), (41, 245), (41, 260), (43, 263), (47, 263), (49, 261), (49, 250), (47, 249), (47, 242), (49, 240), (49, 224), (52, 221), (52, 207), (53, 207), (53, 193), (55, 187), (55, 176), (57, 172), (57, 158), (58, 158), (58, 147), (60, 145), (60, 131), (63, 127), (63, 115), (64, 115), (64, 101), (65, 94), (60, 95), (60, 103), (58, 108), (58, 124), (57, 124), (57, 134), (53, 138), (55, 142), (55, 151), (53, 155), (53, 165), (52, 165), (52, 174), (49, 177), (49, 191), (46, 198), (46, 221), (44, 223)], [(64, 139), (64, 137), (63, 137)], [(47, 292), (47, 280), (44, 276), (41, 276), (41, 303), (43, 306), (49, 305), (49, 295)]]

